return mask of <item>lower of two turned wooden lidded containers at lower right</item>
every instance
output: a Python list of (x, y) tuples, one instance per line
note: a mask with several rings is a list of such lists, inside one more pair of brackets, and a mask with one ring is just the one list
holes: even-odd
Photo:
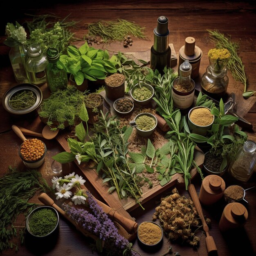
[(238, 202), (229, 203), (222, 212), (219, 222), (220, 231), (243, 227), (248, 218), (248, 211), (243, 204)]

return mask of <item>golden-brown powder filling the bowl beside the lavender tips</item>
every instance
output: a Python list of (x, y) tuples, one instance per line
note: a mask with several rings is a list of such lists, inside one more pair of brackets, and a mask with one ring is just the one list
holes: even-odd
[(152, 222), (142, 222), (138, 228), (139, 239), (147, 245), (155, 245), (162, 238), (162, 230)]

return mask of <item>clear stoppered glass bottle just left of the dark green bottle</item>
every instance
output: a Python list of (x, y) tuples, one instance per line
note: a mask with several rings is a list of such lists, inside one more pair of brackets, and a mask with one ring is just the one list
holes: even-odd
[(46, 55), (43, 54), (41, 47), (34, 43), (27, 50), (27, 70), (29, 79), (35, 85), (41, 85), (46, 82), (45, 67), (47, 66)]

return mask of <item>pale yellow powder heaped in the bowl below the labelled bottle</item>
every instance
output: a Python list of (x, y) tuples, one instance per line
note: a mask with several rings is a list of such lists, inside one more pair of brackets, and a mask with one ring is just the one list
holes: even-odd
[(189, 118), (198, 126), (208, 126), (213, 121), (213, 115), (208, 108), (195, 108), (191, 111)]

